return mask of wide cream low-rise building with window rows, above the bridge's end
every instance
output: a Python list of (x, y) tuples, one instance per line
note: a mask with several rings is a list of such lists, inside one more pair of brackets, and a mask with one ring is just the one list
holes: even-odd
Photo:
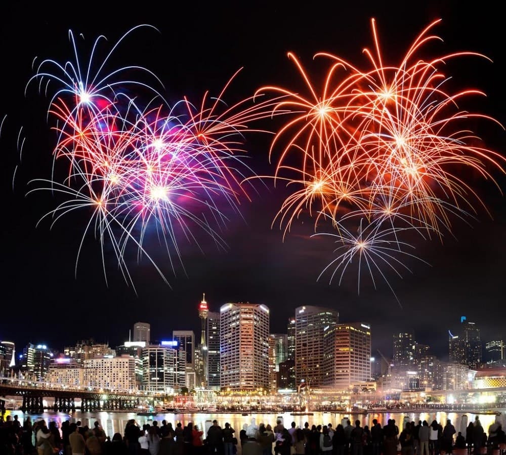
[(84, 384), (108, 390), (135, 390), (135, 360), (130, 355), (83, 362)]

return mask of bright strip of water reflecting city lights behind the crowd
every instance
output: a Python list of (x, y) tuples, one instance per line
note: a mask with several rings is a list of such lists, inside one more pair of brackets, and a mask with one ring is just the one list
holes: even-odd
[[(506, 422), (504, 421), (504, 415), (506, 409), (500, 409), (501, 412), (498, 419), (500, 420), (503, 428), (506, 428)], [(24, 419), (28, 414), (24, 414), (21, 411), (7, 411), (12, 416), (17, 415), (18, 419), (23, 423)], [(291, 422), (295, 422), (296, 426), (303, 428), (304, 423), (308, 422), (309, 425), (326, 425), (331, 423), (335, 428), (343, 420), (349, 419), (352, 424), (359, 420), (361, 425), (368, 425), (369, 428), (372, 426), (372, 419), (377, 419), (382, 426), (386, 425), (389, 419), (395, 419), (395, 422), (399, 428), (402, 427), (402, 422), (405, 419), (409, 421), (418, 422), (419, 420), (426, 420), (427, 423), (431, 424), (433, 420), (441, 423), (444, 427), (446, 419), (450, 419), (451, 423), (455, 426), (455, 430), (464, 432), (465, 430), (461, 427), (467, 427), (469, 422), (474, 422), (475, 417), (479, 416), (483, 429), (488, 433), (488, 427), (496, 420), (494, 414), (474, 414), (471, 412), (370, 412), (367, 414), (350, 414), (350, 413), (339, 413), (339, 412), (314, 412), (313, 416), (290, 416), (289, 412), (285, 413), (252, 413), (247, 415), (241, 415), (241, 413), (185, 413), (185, 414), (173, 414), (173, 413), (158, 413), (156, 416), (138, 416), (135, 412), (74, 412), (71, 414), (65, 412), (44, 412), (43, 414), (30, 414), (32, 422), (37, 418), (43, 418), (49, 425), (49, 422), (56, 421), (61, 427), (62, 422), (70, 420), (70, 422), (81, 421), (82, 426), (88, 425), (93, 428), (94, 423), (98, 420), (106, 434), (112, 438), (114, 433), (124, 432), (126, 422), (130, 419), (135, 419), (139, 426), (142, 428), (144, 424), (152, 424), (153, 420), (158, 421), (158, 425), (161, 425), (162, 420), (166, 420), (167, 423), (171, 422), (173, 427), (176, 427), (178, 422), (181, 422), (183, 426), (188, 422), (198, 425), (199, 429), (205, 429), (212, 424), (212, 421), (216, 419), (218, 424), (222, 427), (228, 422), (236, 430), (237, 434), (242, 429), (243, 424), (250, 424), (251, 419), (255, 418), (255, 423), (271, 424), (274, 427), (278, 417), (282, 418), (285, 427), (289, 428)], [(463, 419), (462, 417), (466, 416)]]

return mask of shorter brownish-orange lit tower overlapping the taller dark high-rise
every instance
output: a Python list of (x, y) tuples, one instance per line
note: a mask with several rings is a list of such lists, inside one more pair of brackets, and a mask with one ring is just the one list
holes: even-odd
[(338, 390), (371, 380), (371, 330), (365, 322), (324, 327), (323, 384)]

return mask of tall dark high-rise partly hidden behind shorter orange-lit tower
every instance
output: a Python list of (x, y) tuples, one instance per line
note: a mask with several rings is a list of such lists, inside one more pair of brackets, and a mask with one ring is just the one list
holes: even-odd
[(323, 332), (339, 322), (339, 313), (330, 308), (303, 306), (295, 310), (295, 374), (296, 383), (310, 387), (323, 386)]

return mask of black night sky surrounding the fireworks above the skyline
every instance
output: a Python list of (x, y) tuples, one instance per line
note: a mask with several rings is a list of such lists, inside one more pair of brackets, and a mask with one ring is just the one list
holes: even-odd
[[(16, 5), (14, 5), (16, 3)], [(104, 4), (107, 3), (107, 6)], [(226, 92), (230, 98), (252, 95), (264, 85), (296, 90), (301, 83), (287, 52), (295, 53), (315, 77), (321, 65), (312, 60), (319, 51), (340, 55), (365, 65), (364, 47), (372, 47), (370, 19), (375, 17), (386, 60), (396, 63), (412, 39), (432, 20), (442, 18), (434, 32), (444, 39), (429, 52), (475, 51), (493, 63), (466, 58), (451, 66), (456, 87), (483, 90), (471, 106), (506, 124), (504, 91), (504, 25), (490, 1), (464, 6), (462, 2), (164, 2), (163, 6), (125, 2), (67, 4), (62, 9), (44, 4), (3, 7), (1, 46), (3, 96), (0, 116), (4, 122), (0, 147), (4, 157), (3, 254), (0, 339), (15, 341), (17, 349), (27, 342), (47, 343), (55, 349), (76, 340), (94, 338), (111, 346), (128, 338), (136, 321), (151, 323), (153, 339), (167, 339), (173, 329), (194, 329), (199, 334), (197, 304), (205, 293), (212, 311), (230, 301), (263, 303), (271, 309), (271, 332), (286, 332), (286, 322), (301, 305), (321, 305), (339, 311), (342, 321), (371, 324), (373, 351), (392, 352), (392, 334), (413, 329), (418, 342), (429, 344), (442, 359), (447, 356), (447, 330), (458, 325), (461, 315), (482, 328), (482, 340), (504, 337), (504, 261), (506, 260), (506, 210), (500, 191), (490, 182), (472, 180), (490, 215), (478, 208), (469, 224), (453, 220), (455, 238), (446, 235), (418, 241), (413, 259), (406, 264), (412, 273), (389, 282), (400, 301), (381, 280), (374, 289), (366, 276), (360, 293), (358, 274), (350, 268), (341, 284), (329, 284), (329, 274), (317, 281), (333, 259), (333, 245), (310, 238), (311, 223), (294, 225), (282, 241), (279, 225), (271, 223), (286, 195), (282, 184), (271, 179), (255, 183), (251, 202), (241, 203), (242, 218), (231, 216), (221, 232), (228, 244), (219, 250), (199, 236), (203, 253), (181, 239), (184, 269), (171, 271), (163, 251), (154, 253), (156, 263), (171, 284), (167, 286), (147, 261), (136, 261), (126, 252), (135, 284), (125, 283), (107, 253), (104, 279), (98, 242), (88, 236), (74, 275), (79, 242), (89, 213), (75, 213), (50, 230), (50, 222), (37, 221), (55, 206), (49, 193), (25, 196), (33, 178), (50, 178), (55, 134), (46, 121), (49, 98), (35, 86), (25, 86), (34, 74), (32, 60), (72, 58), (68, 30), (80, 49), (91, 49), (99, 34), (112, 46), (131, 27), (151, 24), (159, 32), (143, 30), (133, 35), (114, 54), (112, 64), (136, 64), (152, 70), (163, 82), (166, 99), (184, 95), (199, 100), (209, 90), (217, 95), (232, 74), (243, 67)], [(442, 5), (440, 5), (442, 4)], [(104, 43), (103, 43), (104, 44)], [(80, 54), (87, 63), (86, 52)], [(436, 55), (436, 54), (435, 54)], [(326, 68), (326, 66), (325, 66)], [(267, 129), (279, 126), (265, 121)], [(22, 159), (18, 133), (24, 140)], [(477, 125), (489, 148), (504, 153), (506, 134), (499, 127)], [(245, 147), (248, 166), (258, 175), (272, 175), (269, 163), (270, 136), (249, 135)], [(16, 173), (13, 188), (13, 174)], [(501, 189), (505, 179), (497, 176)], [(197, 234), (198, 236), (198, 234)], [(154, 239), (148, 238), (148, 242)], [(154, 243), (153, 243), (154, 245)], [(388, 272), (387, 272), (388, 273)]]

